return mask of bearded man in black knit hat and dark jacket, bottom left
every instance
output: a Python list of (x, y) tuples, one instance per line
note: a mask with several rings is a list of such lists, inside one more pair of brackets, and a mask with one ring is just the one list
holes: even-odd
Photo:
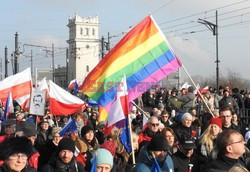
[(41, 172), (85, 172), (84, 166), (76, 161), (75, 144), (70, 138), (63, 138), (58, 144), (57, 153), (44, 165)]

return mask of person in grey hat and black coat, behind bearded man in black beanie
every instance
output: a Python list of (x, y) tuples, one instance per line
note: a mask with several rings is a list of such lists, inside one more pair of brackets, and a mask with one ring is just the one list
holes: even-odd
[(53, 154), (56, 153), (58, 144), (62, 137), (60, 136), (60, 127), (53, 127), (52, 128), (52, 139), (49, 139), (48, 142), (43, 147), (43, 150), (40, 152), (39, 157), (39, 169), (41, 169), (42, 166), (47, 164)]

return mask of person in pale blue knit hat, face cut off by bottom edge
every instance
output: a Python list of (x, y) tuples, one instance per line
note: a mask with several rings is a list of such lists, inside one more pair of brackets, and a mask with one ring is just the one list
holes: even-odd
[(106, 149), (97, 149), (95, 157), (93, 157), (91, 161), (92, 166), (95, 166), (96, 168), (96, 172), (110, 172), (113, 168), (113, 156)]

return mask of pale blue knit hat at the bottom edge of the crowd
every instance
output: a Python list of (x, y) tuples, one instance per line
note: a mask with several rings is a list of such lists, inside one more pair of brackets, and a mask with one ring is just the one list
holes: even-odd
[[(94, 159), (94, 158), (93, 158)], [(93, 163), (92, 159), (92, 163)], [(96, 151), (96, 166), (101, 164), (108, 164), (110, 167), (113, 167), (113, 156), (112, 154), (106, 149), (97, 149)]]

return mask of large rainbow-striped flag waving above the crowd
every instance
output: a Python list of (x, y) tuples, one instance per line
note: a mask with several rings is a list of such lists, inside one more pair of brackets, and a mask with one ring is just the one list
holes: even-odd
[(147, 16), (89, 73), (81, 90), (107, 109), (124, 75), (131, 101), (180, 66), (164, 34), (152, 16)]

